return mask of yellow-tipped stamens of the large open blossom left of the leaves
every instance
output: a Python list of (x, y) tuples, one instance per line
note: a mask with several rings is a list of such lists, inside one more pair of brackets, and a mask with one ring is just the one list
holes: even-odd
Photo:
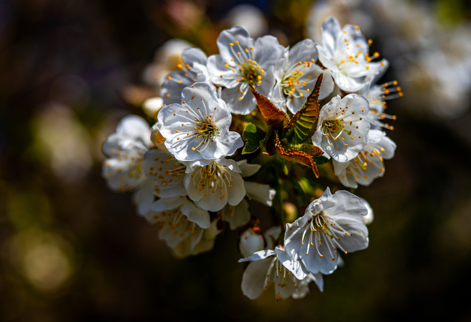
[[(191, 116), (192, 118), (189, 118), (186, 115), (179, 115), (177, 113), (173, 113), (173, 116), (178, 115), (179, 117), (186, 118), (188, 121), (190, 121), (190, 123), (187, 123), (186, 125), (185, 123), (181, 124), (181, 126), (185, 126), (183, 128), (183, 131), (175, 130), (176, 133), (184, 134), (185, 132), (187, 132), (186, 136), (183, 137), (183, 140), (190, 140), (194, 137), (199, 138), (200, 136), (202, 137), (201, 142), (197, 146), (191, 148), (192, 150), (196, 150), (196, 152), (200, 152), (198, 148), (202, 145), (204, 146), (204, 148), (201, 149), (201, 151), (206, 149), (206, 143), (208, 143), (208, 141), (210, 140), (211, 142), (214, 141), (216, 135), (219, 135), (219, 127), (216, 126), (213, 120), (211, 119), (211, 109), (206, 106), (203, 98), (201, 99), (201, 102), (203, 102), (204, 114), (207, 115), (206, 118), (203, 116), (203, 113), (201, 112), (199, 107), (196, 108), (198, 113), (195, 113), (191, 108), (189, 108), (188, 104), (185, 101), (183, 101), (182, 104), (186, 105), (189, 108), (188, 110), (186, 110), (186, 112), (188, 113), (188, 116)], [(214, 108), (214, 110), (216, 110), (216, 108)], [(180, 137), (177, 137), (177, 140), (180, 140)]]

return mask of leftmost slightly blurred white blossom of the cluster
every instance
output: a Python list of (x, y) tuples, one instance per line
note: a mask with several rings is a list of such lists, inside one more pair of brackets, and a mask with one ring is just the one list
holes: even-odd
[(103, 162), (103, 177), (113, 191), (125, 192), (139, 188), (146, 180), (142, 171), (144, 153), (152, 146), (147, 122), (129, 115), (119, 122), (116, 132), (103, 144), (108, 157)]

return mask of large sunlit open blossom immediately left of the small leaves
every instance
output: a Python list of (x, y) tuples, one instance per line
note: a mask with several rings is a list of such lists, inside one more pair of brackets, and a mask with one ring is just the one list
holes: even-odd
[(165, 147), (181, 161), (219, 159), (244, 146), (240, 134), (229, 131), (231, 114), (207, 83), (195, 83), (181, 93), (181, 105), (164, 106), (157, 128)]

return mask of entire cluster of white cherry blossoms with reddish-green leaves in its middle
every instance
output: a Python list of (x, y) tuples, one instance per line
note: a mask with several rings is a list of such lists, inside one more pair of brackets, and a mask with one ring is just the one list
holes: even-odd
[[(152, 128), (135, 115), (122, 119), (103, 146), (103, 176), (113, 190), (135, 191), (138, 213), (176, 257), (209, 251), (226, 227), (240, 228), (248, 298), (270, 285), (277, 300), (304, 297), (310, 282), (323, 291), (341, 255), (368, 246), (373, 210), (345, 190), (313, 192), (317, 167), (348, 188), (383, 176), (396, 149), (382, 131), (393, 129), (382, 120), (396, 118), (384, 113), (385, 100), (402, 92), (397, 82), (376, 85), (388, 61), (373, 61), (359, 27), (333, 17), (322, 24), (322, 44), (284, 48), (235, 26), (217, 45), (210, 57), (183, 52)], [(304, 210), (299, 218), (295, 206), (295, 217), (284, 211), (290, 200)], [(279, 225), (263, 234), (253, 202)]]

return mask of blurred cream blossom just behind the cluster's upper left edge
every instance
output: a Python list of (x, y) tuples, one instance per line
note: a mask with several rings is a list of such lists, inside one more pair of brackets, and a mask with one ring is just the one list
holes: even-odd
[(149, 64), (144, 70), (144, 80), (149, 85), (160, 87), (165, 77), (172, 71), (178, 71), (183, 64), (183, 51), (193, 45), (187, 40), (170, 39), (166, 41), (154, 55), (154, 63)]

